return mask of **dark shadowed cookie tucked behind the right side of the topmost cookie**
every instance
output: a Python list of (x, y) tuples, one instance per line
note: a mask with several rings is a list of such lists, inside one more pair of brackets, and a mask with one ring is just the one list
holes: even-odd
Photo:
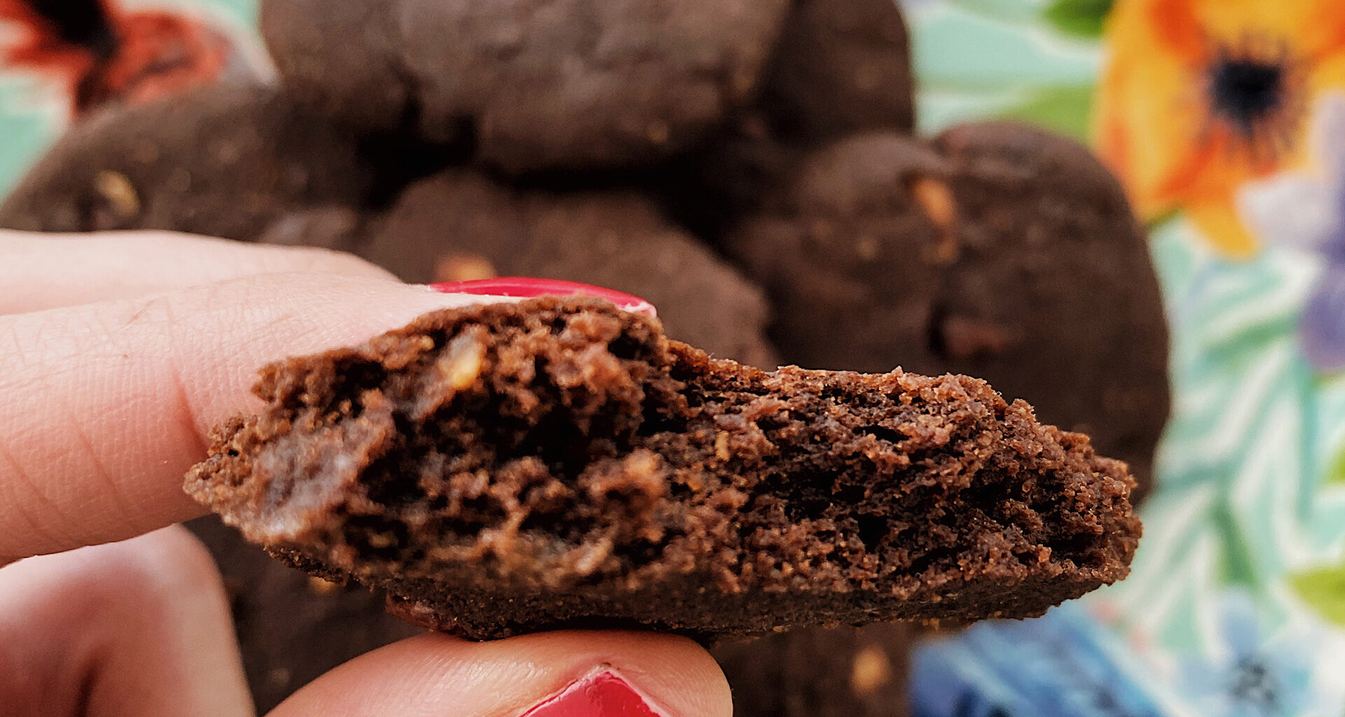
[(663, 169), (670, 213), (718, 239), (790, 183), (808, 152), (857, 132), (911, 133), (908, 44), (893, 0), (795, 0), (751, 106)]

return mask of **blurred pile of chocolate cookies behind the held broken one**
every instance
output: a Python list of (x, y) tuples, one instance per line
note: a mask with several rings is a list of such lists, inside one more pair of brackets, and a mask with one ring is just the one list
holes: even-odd
[[(1147, 487), (1169, 389), (1143, 227), (1071, 140), (913, 136), (893, 0), (262, 0), (261, 27), (278, 85), (77, 125), (0, 226), (607, 285), (722, 358), (986, 378)], [(218, 523), (198, 533), (261, 709), (414, 631)], [(894, 716), (908, 635), (812, 628), (718, 655), (740, 714)]]

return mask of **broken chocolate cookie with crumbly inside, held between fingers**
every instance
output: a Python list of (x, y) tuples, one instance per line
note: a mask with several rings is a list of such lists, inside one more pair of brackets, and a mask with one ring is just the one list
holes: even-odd
[(262, 370), (187, 491), (475, 639), (1025, 617), (1124, 577), (1124, 464), (979, 379), (775, 373), (589, 299)]

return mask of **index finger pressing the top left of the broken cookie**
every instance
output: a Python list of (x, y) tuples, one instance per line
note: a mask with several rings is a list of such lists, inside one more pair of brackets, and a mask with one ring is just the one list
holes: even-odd
[(210, 426), (257, 369), (490, 300), (377, 278), (265, 274), (0, 317), (0, 565), (194, 518)]

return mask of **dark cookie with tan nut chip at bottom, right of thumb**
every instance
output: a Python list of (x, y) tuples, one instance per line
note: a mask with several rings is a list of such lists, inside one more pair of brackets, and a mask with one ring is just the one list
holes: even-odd
[(714, 658), (733, 687), (734, 717), (907, 717), (913, 632), (810, 627), (725, 643)]

